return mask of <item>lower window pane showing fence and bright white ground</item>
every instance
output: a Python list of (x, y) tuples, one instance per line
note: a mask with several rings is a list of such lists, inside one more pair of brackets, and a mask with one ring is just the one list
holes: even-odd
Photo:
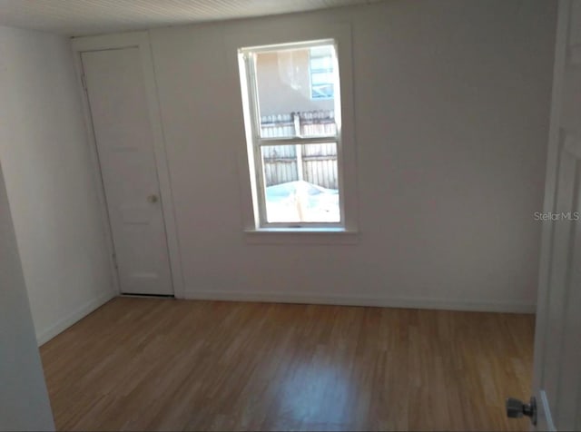
[(268, 222), (339, 222), (337, 143), (261, 147)]

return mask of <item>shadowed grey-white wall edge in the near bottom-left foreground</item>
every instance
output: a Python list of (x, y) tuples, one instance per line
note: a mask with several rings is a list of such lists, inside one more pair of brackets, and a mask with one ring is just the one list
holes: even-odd
[(0, 430), (54, 430), (1, 168), (0, 287)]

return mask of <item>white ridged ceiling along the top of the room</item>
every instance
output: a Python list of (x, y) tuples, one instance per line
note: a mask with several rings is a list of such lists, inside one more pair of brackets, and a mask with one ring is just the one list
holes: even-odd
[(0, 25), (79, 36), (379, 0), (0, 0)]

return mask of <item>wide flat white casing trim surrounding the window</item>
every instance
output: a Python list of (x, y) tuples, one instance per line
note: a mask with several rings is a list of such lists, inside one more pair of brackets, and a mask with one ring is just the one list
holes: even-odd
[[(244, 83), (238, 50), (243, 46), (285, 44), (290, 41), (306, 42), (333, 39), (336, 41), (340, 69), (341, 142), (338, 163), (341, 177), (341, 198), (344, 219), (342, 228), (261, 228), (256, 206), (256, 175), (252, 142), (248, 92)], [(355, 103), (353, 99), (353, 54), (349, 23), (317, 22), (317, 25), (281, 19), (276, 23), (256, 22), (254, 25), (231, 26), (224, 34), (226, 64), (232, 85), (241, 94), (241, 104), (231, 109), (232, 127), (239, 132), (240, 147), (236, 152), (237, 171), (240, 176), (242, 239), (252, 244), (355, 244), (360, 241), (359, 200), (357, 196), (357, 147), (355, 140)], [(246, 143), (247, 145), (244, 145)], [(339, 166), (339, 165), (338, 165)]]

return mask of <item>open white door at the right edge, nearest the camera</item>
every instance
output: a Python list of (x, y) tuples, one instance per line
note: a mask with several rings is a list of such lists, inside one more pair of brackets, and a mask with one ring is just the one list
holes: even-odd
[[(581, 1), (559, 4), (535, 339), (538, 430), (581, 430)], [(552, 214), (551, 214), (552, 213)]]

